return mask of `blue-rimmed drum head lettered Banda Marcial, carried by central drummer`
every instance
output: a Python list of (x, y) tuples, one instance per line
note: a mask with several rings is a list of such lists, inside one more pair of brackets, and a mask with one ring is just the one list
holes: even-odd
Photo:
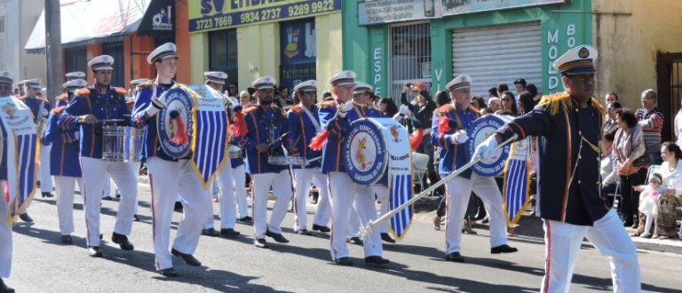
[(362, 118), (351, 123), (345, 136), (341, 163), (357, 184), (372, 185), (384, 176), (388, 150), (381, 129), (371, 118)]

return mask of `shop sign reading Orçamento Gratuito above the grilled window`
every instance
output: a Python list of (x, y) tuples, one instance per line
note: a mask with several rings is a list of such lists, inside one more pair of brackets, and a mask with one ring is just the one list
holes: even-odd
[(375, 0), (358, 4), (358, 24), (437, 19), (442, 15), (440, 0)]

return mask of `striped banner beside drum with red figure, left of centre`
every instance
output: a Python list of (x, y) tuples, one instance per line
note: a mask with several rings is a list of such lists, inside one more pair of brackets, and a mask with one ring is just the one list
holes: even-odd
[(230, 146), (228, 130), (230, 123), (225, 108), (225, 98), (218, 91), (206, 85), (190, 86), (196, 94), (192, 117), (192, 167), (201, 179), (203, 188), (208, 188), (216, 172), (227, 162), (227, 147)]

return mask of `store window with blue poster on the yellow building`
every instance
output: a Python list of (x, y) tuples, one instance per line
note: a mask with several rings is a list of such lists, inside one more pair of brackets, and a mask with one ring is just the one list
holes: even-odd
[(293, 20), (280, 23), (279, 86), (292, 89), (298, 83), (316, 79), (315, 20)]

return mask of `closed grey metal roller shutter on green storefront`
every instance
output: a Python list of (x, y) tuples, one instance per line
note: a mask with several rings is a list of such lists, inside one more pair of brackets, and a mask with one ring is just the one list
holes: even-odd
[(472, 95), (488, 98), (488, 89), (526, 79), (542, 91), (540, 23), (472, 28), (452, 32), (452, 76), (472, 76)]

